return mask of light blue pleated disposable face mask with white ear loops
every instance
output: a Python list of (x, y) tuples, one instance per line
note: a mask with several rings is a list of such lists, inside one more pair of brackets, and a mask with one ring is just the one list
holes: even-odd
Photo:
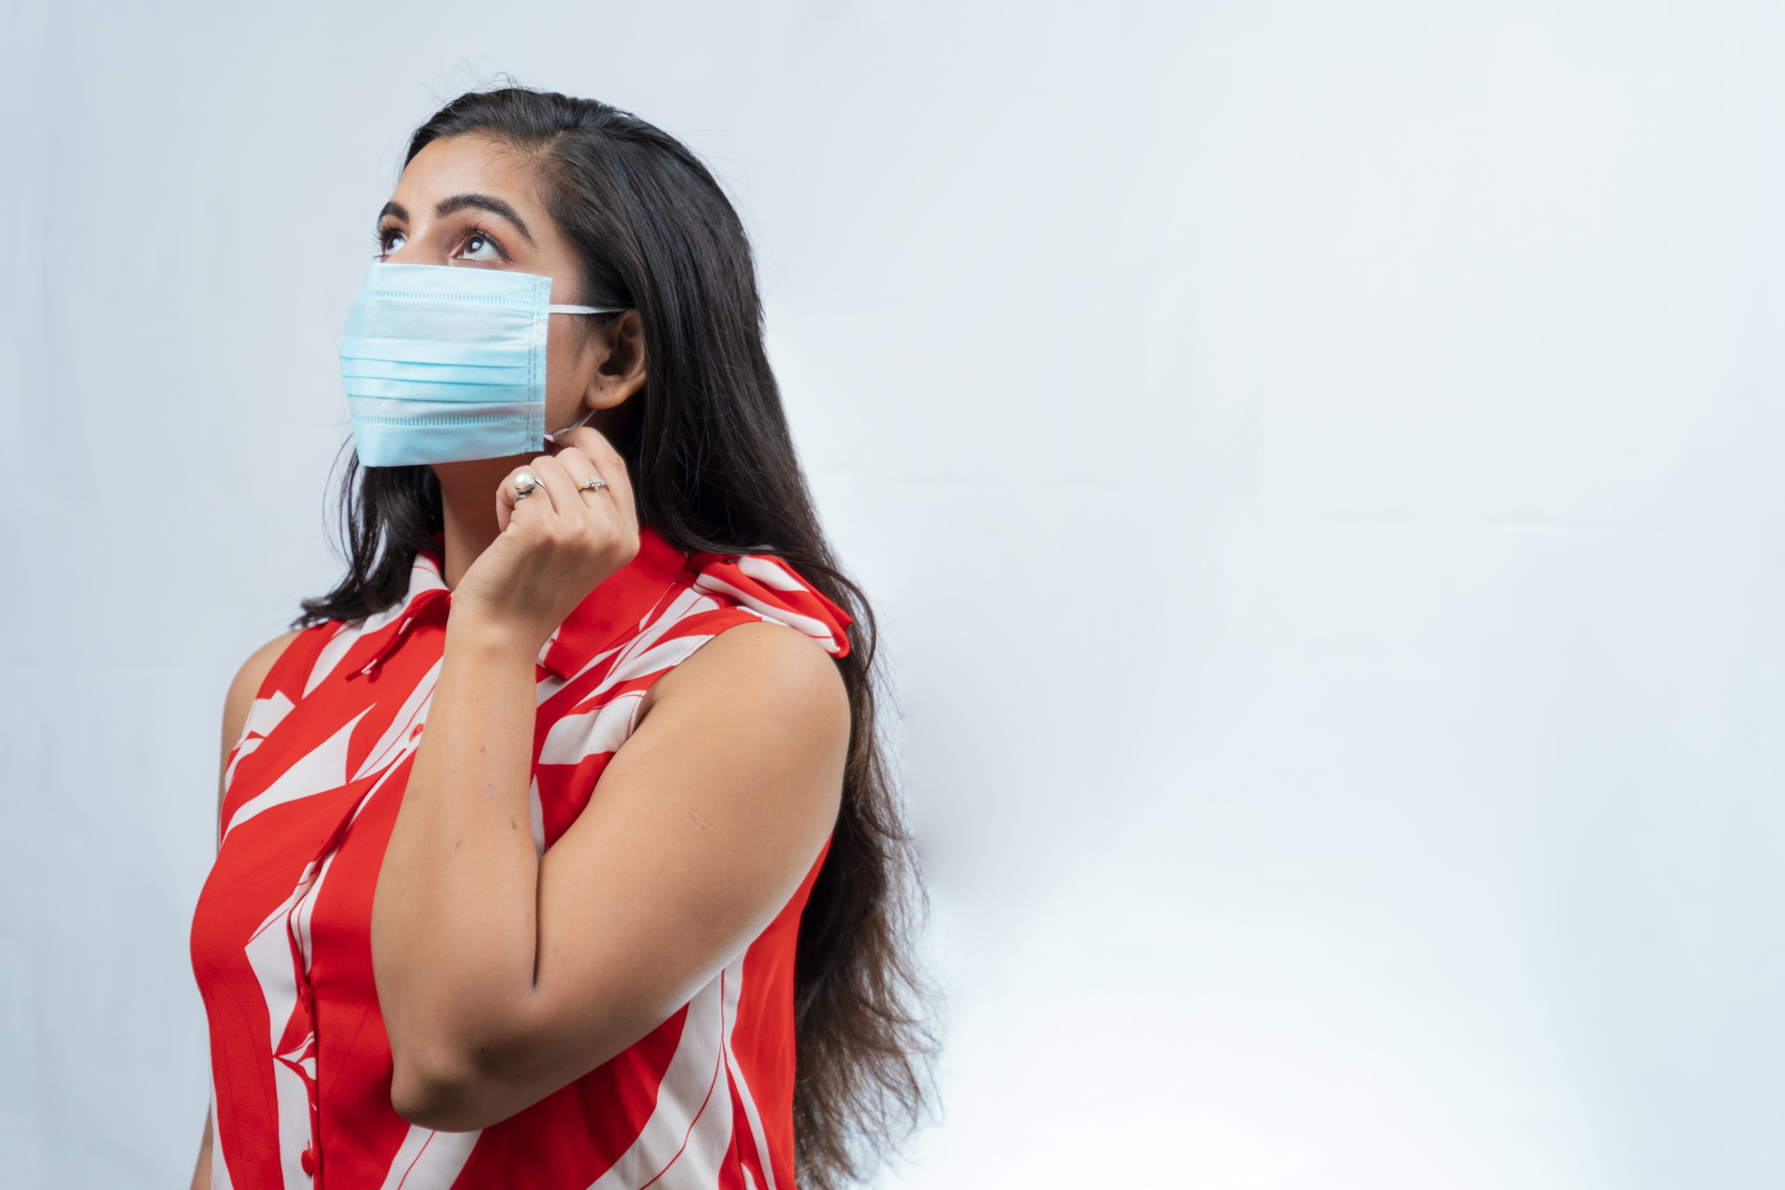
[(552, 278), (534, 273), (373, 262), (341, 334), (361, 464), (543, 453), (550, 316), (616, 309), (552, 305)]

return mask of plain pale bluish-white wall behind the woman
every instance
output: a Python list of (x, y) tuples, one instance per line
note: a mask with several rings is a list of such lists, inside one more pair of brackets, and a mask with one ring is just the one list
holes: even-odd
[(878, 1185), (1785, 1181), (1778, 4), (7, 5), (0, 1153), (184, 1186), (218, 721), (405, 137), (682, 136), (878, 599)]

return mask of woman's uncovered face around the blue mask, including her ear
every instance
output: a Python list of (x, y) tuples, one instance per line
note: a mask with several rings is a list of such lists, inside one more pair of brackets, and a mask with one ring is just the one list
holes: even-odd
[[(403, 168), (378, 212), (386, 264), (512, 269), (552, 278), (552, 302), (580, 303), (582, 271), (536, 196), (532, 169), (496, 141), (457, 136), (430, 141)], [(612, 409), (643, 384), (639, 316), (607, 330), (585, 314), (553, 314), (546, 339), (546, 432)], [(602, 412), (587, 425), (602, 428)], [(539, 451), (528, 451), (532, 459)]]

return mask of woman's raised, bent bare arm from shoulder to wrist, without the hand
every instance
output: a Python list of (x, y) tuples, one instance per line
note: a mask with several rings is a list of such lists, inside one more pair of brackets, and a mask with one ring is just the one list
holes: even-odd
[(755, 938), (835, 822), (850, 707), (785, 624), (737, 624), (653, 707), (541, 860), (537, 644), (461, 610), (373, 901), (393, 1106), (466, 1131), (644, 1037)]

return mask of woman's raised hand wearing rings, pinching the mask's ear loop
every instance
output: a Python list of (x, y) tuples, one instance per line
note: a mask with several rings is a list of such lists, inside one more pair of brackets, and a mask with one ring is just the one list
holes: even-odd
[[(568, 430), (553, 448), (502, 478), (502, 532), (453, 587), (455, 619), (514, 633), (536, 653), (591, 591), (639, 553), (637, 508), (619, 451), (591, 426)], [(541, 485), (516, 500), (521, 473)], [(591, 475), (607, 487), (578, 489)]]

